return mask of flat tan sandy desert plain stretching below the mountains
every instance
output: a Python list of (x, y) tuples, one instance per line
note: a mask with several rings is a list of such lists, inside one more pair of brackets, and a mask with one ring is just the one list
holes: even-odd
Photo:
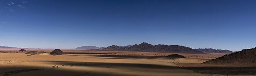
[[(0, 50), (0, 76), (256, 75), (255, 67), (200, 64), (225, 54), (179, 54), (186, 58), (165, 58), (171, 53), (61, 49), (63, 52), (84, 53), (55, 56), (43, 53), (27, 56), (29, 54), (18, 50)], [(51, 52), (54, 49), (26, 50)], [(58, 67), (53, 68), (54, 65)]]

